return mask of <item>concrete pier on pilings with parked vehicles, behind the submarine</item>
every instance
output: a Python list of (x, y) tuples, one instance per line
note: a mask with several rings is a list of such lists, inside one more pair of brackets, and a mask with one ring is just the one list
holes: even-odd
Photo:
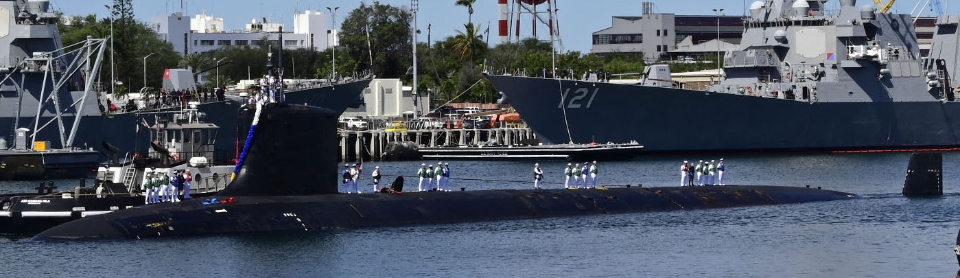
[(384, 151), (391, 142), (409, 141), (423, 147), (476, 145), (487, 141), (499, 144), (517, 144), (537, 139), (530, 128), (521, 124), (508, 124), (492, 129), (420, 129), (407, 131), (339, 130), (341, 162), (382, 161)]

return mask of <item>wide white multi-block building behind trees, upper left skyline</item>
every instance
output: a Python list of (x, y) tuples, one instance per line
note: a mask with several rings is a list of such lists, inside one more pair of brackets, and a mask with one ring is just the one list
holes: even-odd
[[(283, 31), (284, 48), (329, 48), (331, 33), (328, 31), (326, 13), (306, 11), (294, 14), (294, 30)], [(181, 55), (206, 52), (230, 45), (257, 45), (262, 39), (276, 40), (283, 24), (258, 22), (253, 19), (243, 31), (226, 31), (224, 18), (197, 14), (190, 18), (183, 13), (171, 13), (158, 22), (160, 39), (169, 41)]]

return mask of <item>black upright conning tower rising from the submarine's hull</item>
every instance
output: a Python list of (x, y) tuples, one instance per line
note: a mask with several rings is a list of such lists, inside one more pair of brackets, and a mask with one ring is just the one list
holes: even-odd
[(337, 192), (337, 114), (328, 109), (269, 103), (251, 129), (256, 105), (240, 109), (237, 139), (253, 133), (239, 172), (217, 195), (306, 195)]

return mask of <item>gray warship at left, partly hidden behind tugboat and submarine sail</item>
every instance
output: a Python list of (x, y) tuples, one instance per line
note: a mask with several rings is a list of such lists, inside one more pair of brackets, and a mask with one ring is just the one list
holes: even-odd
[[(6, 20), (0, 24), (0, 138), (13, 139), (16, 130), (26, 128), (27, 146), (49, 140), (49, 149), (146, 152), (150, 135), (138, 129), (172, 121), (160, 114), (189, 106), (179, 101), (156, 105), (148, 98), (131, 101), (132, 105), (114, 103), (121, 109), (108, 109), (108, 93), (96, 82), (98, 67), (106, 66), (100, 57), (108, 38), (88, 38), (64, 46), (56, 24), (59, 19), (49, 11), (49, 1), (0, 0), (0, 20)], [(296, 86), (287, 91), (287, 98), (343, 113), (363, 103), (361, 93), (371, 81), (372, 76), (366, 75)], [(243, 97), (228, 94), (193, 106), (205, 122), (230, 131), (236, 128), (236, 112), (245, 102)], [(215, 159), (231, 160), (235, 140), (235, 133), (219, 133)]]

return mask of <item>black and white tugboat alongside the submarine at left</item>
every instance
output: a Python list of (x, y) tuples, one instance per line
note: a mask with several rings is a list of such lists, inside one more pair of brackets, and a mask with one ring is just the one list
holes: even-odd
[(128, 152), (122, 161), (114, 153), (112, 161), (97, 170), (94, 187), (86, 187), (81, 179), (72, 190), (54, 191), (57, 187), (51, 182), (49, 186), (41, 183), (36, 193), (0, 195), (0, 234), (32, 235), (85, 216), (144, 205), (144, 185), (151, 176), (188, 170), (193, 177), (190, 195), (203, 197), (223, 190), (233, 166), (211, 163), (219, 127), (204, 123), (201, 117), (196, 104), (180, 114), (158, 117), (160, 121), (147, 126), (152, 149), (144, 156)]

